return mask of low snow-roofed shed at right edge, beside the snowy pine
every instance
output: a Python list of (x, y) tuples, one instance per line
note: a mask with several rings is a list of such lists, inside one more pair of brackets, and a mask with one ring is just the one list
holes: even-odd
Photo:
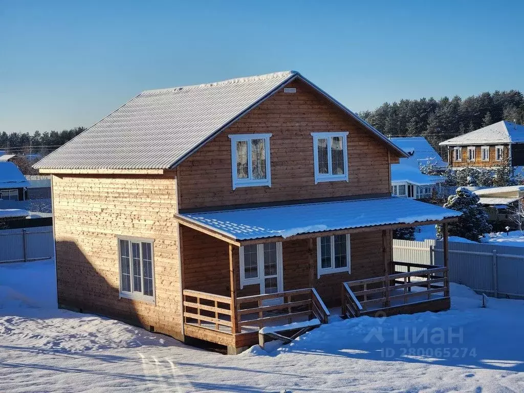
[(511, 229), (522, 229), (524, 185), (491, 187), (473, 192), (479, 196), (479, 202), (485, 206), (489, 221), (496, 231), (504, 231), (506, 226)]

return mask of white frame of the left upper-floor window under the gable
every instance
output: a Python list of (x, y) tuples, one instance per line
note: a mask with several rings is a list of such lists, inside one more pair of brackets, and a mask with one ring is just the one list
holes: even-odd
[[(239, 187), (271, 187), (271, 154), (269, 148), (269, 138), (272, 134), (236, 134), (228, 135), (231, 139), (231, 172), (233, 178), (233, 190)], [(252, 152), (251, 140), (264, 139), (264, 148), (266, 151), (266, 179), (253, 179), (252, 173)], [(238, 179), (236, 167), (236, 143), (245, 140), (247, 142), (247, 179)]]

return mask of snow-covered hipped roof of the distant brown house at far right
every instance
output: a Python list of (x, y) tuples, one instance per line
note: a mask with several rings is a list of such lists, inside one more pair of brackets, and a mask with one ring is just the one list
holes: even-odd
[(505, 120), (440, 143), (441, 146), (506, 144), (524, 142), (524, 126)]

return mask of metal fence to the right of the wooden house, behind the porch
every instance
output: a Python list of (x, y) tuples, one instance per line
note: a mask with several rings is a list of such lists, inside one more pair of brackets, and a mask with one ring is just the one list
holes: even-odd
[[(442, 241), (393, 241), (398, 262), (442, 266)], [(405, 269), (405, 268), (404, 268)], [(398, 267), (399, 271), (403, 271)], [(524, 298), (524, 248), (449, 242), (450, 281), (494, 297)]]

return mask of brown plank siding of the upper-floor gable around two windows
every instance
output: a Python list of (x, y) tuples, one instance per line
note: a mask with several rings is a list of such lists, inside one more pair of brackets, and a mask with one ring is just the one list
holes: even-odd
[[(361, 124), (300, 81), (225, 129), (178, 167), (180, 209), (390, 191), (388, 150)], [(347, 131), (349, 182), (314, 184), (312, 132)], [(233, 190), (231, 134), (270, 133), (271, 187)], [(391, 156), (391, 162), (398, 157)]]

